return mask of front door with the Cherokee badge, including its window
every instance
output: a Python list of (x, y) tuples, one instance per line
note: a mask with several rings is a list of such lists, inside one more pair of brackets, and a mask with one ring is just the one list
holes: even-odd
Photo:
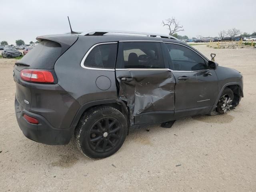
[(175, 119), (207, 114), (218, 96), (218, 78), (207, 60), (184, 44), (164, 43), (175, 77)]

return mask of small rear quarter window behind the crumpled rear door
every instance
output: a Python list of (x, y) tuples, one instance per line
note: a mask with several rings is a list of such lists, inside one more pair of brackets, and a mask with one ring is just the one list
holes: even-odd
[(97, 45), (86, 56), (84, 66), (114, 69), (116, 63), (116, 51), (117, 43)]

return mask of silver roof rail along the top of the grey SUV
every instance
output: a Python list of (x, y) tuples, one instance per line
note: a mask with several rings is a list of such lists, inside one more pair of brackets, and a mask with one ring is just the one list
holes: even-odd
[(93, 36), (102, 36), (106, 33), (118, 33), (118, 34), (130, 34), (130, 35), (146, 35), (146, 36), (150, 36), (150, 37), (157, 37), (160, 36), (161, 38), (168, 38), (168, 39), (176, 39), (178, 40), (176, 37), (174, 36), (170, 36), (170, 35), (163, 35), (163, 34), (155, 34), (155, 33), (146, 33), (146, 32), (132, 32), (132, 31), (119, 31), (119, 30), (89, 30), (86, 32), (82, 32), (81, 34), (78, 35), (93, 35)]

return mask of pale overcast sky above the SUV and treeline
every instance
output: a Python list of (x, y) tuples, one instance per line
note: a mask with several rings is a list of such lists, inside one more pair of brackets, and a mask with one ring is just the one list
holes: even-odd
[(0, 41), (28, 44), (36, 36), (114, 29), (168, 34), (161, 22), (174, 16), (189, 38), (220, 30), (256, 31), (256, 0), (1, 0)]

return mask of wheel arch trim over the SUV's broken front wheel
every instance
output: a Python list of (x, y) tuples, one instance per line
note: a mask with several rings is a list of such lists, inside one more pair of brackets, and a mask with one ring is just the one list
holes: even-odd
[(224, 90), (224, 88), (230, 88), (234, 94), (237, 94), (237, 96), (239, 96), (239, 92), (240, 92), (240, 96), (244, 97), (244, 93), (243, 93), (243, 89), (242, 89), (242, 84), (240, 82), (230, 82), (230, 83), (226, 83), (222, 86), (222, 88), (220, 89), (220, 92), (218, 94), (218, 97), (216, 98), (215, 102), (214, 102), (214, 105), (212, 106), (212, 109), (210, 112), (214, 111), (217, 103), (218, 103), (218, 100), (220, 99), (220, 96)]

